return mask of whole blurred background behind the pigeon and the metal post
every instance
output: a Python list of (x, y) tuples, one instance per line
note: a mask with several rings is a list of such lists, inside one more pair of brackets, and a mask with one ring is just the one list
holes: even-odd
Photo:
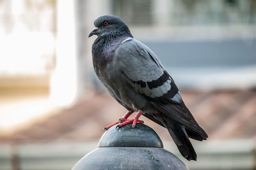
[(0, 169), (70, 169), (124, 115), (92, 67), (101, 15), (157, 54), (209, 134), (189, 169), (256, 169), (255, 0), (1, 0)]

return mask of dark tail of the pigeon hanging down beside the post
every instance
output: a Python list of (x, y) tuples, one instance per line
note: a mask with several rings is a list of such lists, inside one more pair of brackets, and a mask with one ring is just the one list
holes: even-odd
[(166, 124), (173, 141), (177, 145), (181, 155), (188, 160), (196, 160), (196, 152), (189, 141), (188, 134), (184, 125), (180, 125), (176, 122)]

